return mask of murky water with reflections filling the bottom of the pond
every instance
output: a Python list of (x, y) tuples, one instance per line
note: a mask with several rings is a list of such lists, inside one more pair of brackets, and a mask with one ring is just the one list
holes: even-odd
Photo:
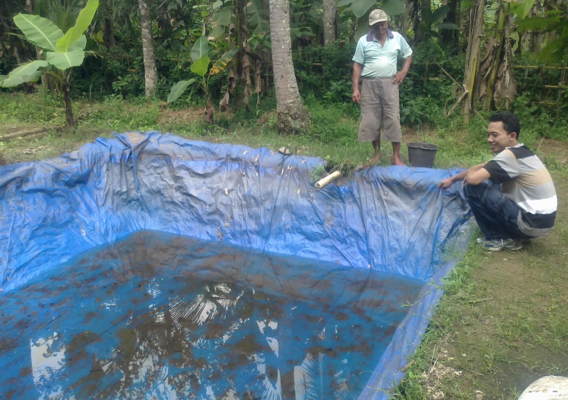
[(0, 297), (0, 398), (355, 399), (423, 284), (142, 231)]

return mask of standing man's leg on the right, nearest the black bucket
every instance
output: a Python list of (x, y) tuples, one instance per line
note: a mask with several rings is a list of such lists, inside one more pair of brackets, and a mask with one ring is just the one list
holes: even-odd
[(381, 80), (381, 103), (383, 104), (383, 126), (385, 138), (392, 142), (392, 164), (404, 165), (401, 160), (401, 113), (399, 108), (399, 85), (393, 85), (392, 79)]

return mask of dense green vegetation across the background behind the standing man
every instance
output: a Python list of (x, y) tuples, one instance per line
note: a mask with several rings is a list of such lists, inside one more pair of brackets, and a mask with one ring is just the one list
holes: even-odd
[[(448, 113), (459, 113), (461, 106), (456, 101), (470, 79), (465, 58), (471, 42), (468, 35), (475, 28), (472, 15), (480, 1), (484, 43), (474, 72), (476, 82), (471, 83), (467, 96), (474, 108), (465, 119), (478, 111), (510, 108), (524, 122), (542, 126), (543, 134), (565, 138), (568, 86), (562, 67), (567, 60), (568, 6), (562, 0), (341, 0), (332, 1), (331, 6), (329, 1), (292, 1), (290, 38), (301, 96), (329, 103), (351, 101), (356, 38), (366, 31), (369, 11), (382, 6), (392, 15), (392, 27), (405, 34), (415, 50), (401, 90), (402, 122), (443, 122)], [(178, 81), (199, 78), (197, 83), (201, 82), (205, 72), (194, 68), (198, 60), (192, 49), (205, 35), (208, 62), (219, 60), (229, 49), (236, 56), (224, 71), (209, 75), (207, 87), (201, 84), (203, 90), (189, 86), (173, 107), (208, 103), (221, 111), (251, 111), (258, 110), (262, 99), (274, 99), (270, 1), (265, 0), (101, 0), (86, 31), (87, 56), (82, 65), (67, 72), (72, 98), (101, 101), (144, 94), (149, 85), (144, 72), (149, 68), (142, 46), (142, 3), (150, 17), (156, 64), (151, 97), (165, 101)], [(46, 52), (26, 40), (16, 26), (16, 15), (40, 15), (66, 33), (86, 4), (83, 0), (18, 0), (0, 5), (0, 74), (7, 75), (28, 60), (45, 59)], [(331, 22), (324, 21), (326, 15), (329, 19), (329, 7), (335, 10)], [(326, 31), (330, 24), (333, 29)], [(58, 79), (62, 75), (49, 67), (45, 72), (42, 81), (11, 90), (43, 88), (65, 94), (67, 81)], [(211, 116), (212, 112), (210, 122)], [(218, 114), (215, 117), (219, 119)]]

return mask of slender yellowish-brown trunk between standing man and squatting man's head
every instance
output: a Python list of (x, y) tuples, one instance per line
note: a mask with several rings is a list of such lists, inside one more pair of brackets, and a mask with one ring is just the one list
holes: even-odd
[(471, 17), (469, 18), (469, 35), (465, 56), (465, 75), (463, 79), (465, 90), (467, 90), (469, 94), (462, 106), (462, 115), (466, 123), (469, 122), (471, 110), (475, 108), (476, 97), (474, 95), (474, 88), (476, 87), (479, 61), (481, 57), (481, 36), (483, 35), (484, 8), (485, 0), (476, 0), (474, 8), (471, 9)]

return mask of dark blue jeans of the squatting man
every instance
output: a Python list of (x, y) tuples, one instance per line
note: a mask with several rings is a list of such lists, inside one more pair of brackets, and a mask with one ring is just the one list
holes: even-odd
[(484, 181), (464, 183), (465, 199), (486, 239), (532, 239), (519, 231), (519, 206), (501, 192), (498, 185)]

